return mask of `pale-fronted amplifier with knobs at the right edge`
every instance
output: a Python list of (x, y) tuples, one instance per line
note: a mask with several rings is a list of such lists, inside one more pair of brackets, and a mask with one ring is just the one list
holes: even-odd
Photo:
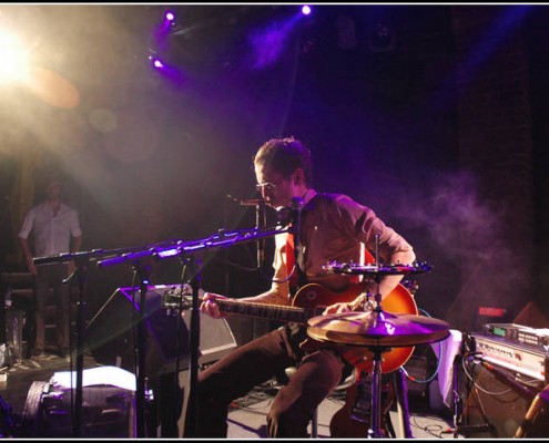
[(481, 353), (482, 360), (536, 380), (546, 380), (546, 352), (542, 348), (485, 333), (472, 332), (470, 337), (475, 352)]

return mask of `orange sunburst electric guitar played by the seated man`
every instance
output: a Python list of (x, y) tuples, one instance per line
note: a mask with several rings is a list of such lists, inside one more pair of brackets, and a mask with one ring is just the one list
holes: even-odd
[[(174, 292), (175, 291), (175, 292)], [(217, 299), (215, 302), (222, 312), (264, 318), (282, 322), (307, 323), (307, 320), (322, 316), (324, 309), (335, 302), (350, 302), (360, 295), (362, 287), (353, 286), (343, 292), (333, 292), (318, 284), (308, 284), (302, 287), (292, 299), (292, 306), (263, 305), (238, 299)], [(189, 299), (189, 292), (183, 292)], [(171, 300), (181, 298), (181, 288), (167, 289), (163, 296), (164, 305), (176, 306)], [(200, 297), (202, 301), (202, 297)], [(401, 285), (398, 285), (383, 300), (383, 309), (390, 313), (417, 315), (418, 309), (414, 297)], [(326, 347), (314, 339), (307, 339), (302, 348), (308, 351)], [(342, 349), (343, 357), (360, 371), (369, 371), (373, 368), (373, 353), (365, 347), (337, 344)], [(414, 352), (414, 347), (393, 348), (383, 353), (382, 372), (395, 371), (408, 361)]]

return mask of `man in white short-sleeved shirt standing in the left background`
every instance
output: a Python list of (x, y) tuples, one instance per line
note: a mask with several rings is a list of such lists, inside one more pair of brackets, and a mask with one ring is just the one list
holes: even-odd
[(35, 338), (32, 356), (40, 358), (45, 346), (45, 313), (50, 288), (58, 307), (57, 339), (59, 352), (67, 357), (70, 352), (70, 293), (64, 278), (74, 270), (73, 262), (54, 262), (34, 266), (34, 257), (77, 253), (82, 246), (82, 230), (79, 214), (61, 202), (62, 183), (59, 176), (51, 176), (47, 182), (45, 199), (27, 213), (19, 243), (27, 259), (29, 271), (34, 276), (34, 326)]

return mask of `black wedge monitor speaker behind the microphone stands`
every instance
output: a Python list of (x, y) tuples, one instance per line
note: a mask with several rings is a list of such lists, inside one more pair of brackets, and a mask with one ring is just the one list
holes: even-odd
[[(181, 319), (172, 315), (162, 300), (166, 290), (177, 286), (151, 286), (145, 295), (145, 371), (149, 377), (174, 372), (177, 361), (180, 371), (189, 368), (191, 311)], [(90, 320), (85, 343), (98, 363), (135, 372), (134, 326), (140, 303), (138, 289), (119, 288)], [(221, 359), (236, 346), (224, 319), (200, 315), (200, 364)]]

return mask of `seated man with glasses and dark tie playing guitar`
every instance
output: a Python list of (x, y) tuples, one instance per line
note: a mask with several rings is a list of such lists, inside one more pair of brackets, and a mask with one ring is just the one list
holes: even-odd
[[(359, 287), (354, 280), (360, 276), (327, 272), (323, 266), (359, 264), (364, 248), (375, 251), (376, 245), (383, 264), (414, 262), (411, 246), (369, 207), (345, 195), (317, 193), (312, 187), (311, 151), (298, 140), (267, 141), (255, 154), (254, 167), (257, 189), (268, 206), (289, 207), (296, 197), (303, 199), (304, 206), (297, 238), (287, 234), (275, 236), (271, 288), (241, 301), (299, 306), (298, 287), (319, 284), (332, 296), (323, 315), (349, 312), (363, 309), (364, 291), (353, 290), (354, 286)], [(293, 243), (298, 244), (296, 248), (292, 247)], [(383, 277), (378, 286), (382, 303), (401, 278), (400, 275)], [(201, 311), (214, 318), (226, 316), (216, 302), (224, 298), (206, 292)], [(201, 371), (196, 425), (190, 431), (187, 420), (185, 436), (226, 437), (231, 402), (285, 368), (297, 367), (272, 403), (267, 433), (270, 437), (306, 437), (316, 408), (353, 369), (337, 346), (325, 342), (312, 349), (301, 346), (307, 339), (306, 328), (306, 322), (287, 322)]]

